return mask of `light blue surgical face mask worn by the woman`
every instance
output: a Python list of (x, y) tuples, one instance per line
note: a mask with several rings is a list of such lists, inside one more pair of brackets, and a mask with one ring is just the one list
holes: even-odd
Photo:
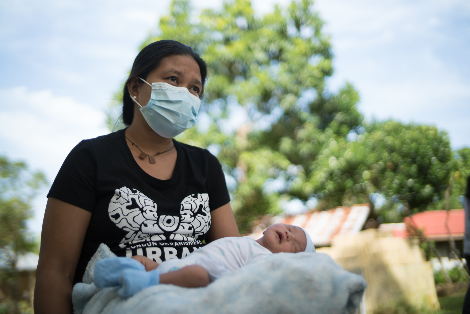
[(196, 125), (201, 100), (188, 88), (167, 83), (152, 83), (150, 86), (152, 95), (147, 106), (142, 107), (131, 98), (141, 106), (141, 113), (152, 130), (163, 137), (172, 138)]

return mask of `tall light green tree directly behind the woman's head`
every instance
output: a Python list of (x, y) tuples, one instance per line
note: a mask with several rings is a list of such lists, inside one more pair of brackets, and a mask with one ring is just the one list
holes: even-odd
[[(173, 1), (157, 34), (142, 45), (175, 39), (207, 61), (210, 81), (200, 119), (208, 127), (190, 129), (178, 139), (219, 152), (227, 176), (236, 181), (233, 207), (241, 229), (260, 214), (280, 212), (281, 194), (304, 200), (312, 195), (313, 188), (302, 182), (324, 142), (311, 135), (345, 136), (360, 124), (352, 86), (338, 94), (324, 90), (332, 55), (312, 5), (292, 2), (288, 10), (276, 6), (258, 18), (249, 1), (235, 0), (224, 3), (221, 12), (204, 10), (191, 22), (189, 2)], [(247, 118), (236, 124), (236, 113)], [(266, 180), (279, 177), (284, 187), (266, 186)]]

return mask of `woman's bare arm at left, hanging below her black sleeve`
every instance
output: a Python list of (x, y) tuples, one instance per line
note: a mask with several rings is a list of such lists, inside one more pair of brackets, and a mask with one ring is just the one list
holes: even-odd
[(34, 313), (72, 313), (72, 283), (91, 212), (49, 197), (41, 232)]

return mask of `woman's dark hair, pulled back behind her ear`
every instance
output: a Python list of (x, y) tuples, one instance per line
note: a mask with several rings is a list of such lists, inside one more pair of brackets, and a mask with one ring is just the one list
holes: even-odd
[(123, 106), (122, 106), (122, 120), (126, 126), (130, 126), (134, 118), (134, 102), (131, 99), (127, 83), (135, 77), (140, 77), (147, 80), (149, 73), (155, 70), (164, 57), (170, 55), (190, 55), (199, 65), (202, 79), (202, 89), (199, 93), (199, 98), (202, 99), (204, 94), (204, 83), (207, 76), (207, 65), (204, 60), (193, 51), (193, 48), (182, 44), (176, 40), (159, 40), (146, 46), (135, 57), (134, 64), (132, 65), (131, 74), (124, 84), (123, 90)]

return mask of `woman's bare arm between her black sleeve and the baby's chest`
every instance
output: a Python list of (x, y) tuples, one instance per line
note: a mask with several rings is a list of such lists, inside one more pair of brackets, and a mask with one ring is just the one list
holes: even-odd
[(220, 206), (211, 212), (211, 228), (209, 229), (206, 242), (210, 243), (226, 236), (240, 236), (230, 203)]

